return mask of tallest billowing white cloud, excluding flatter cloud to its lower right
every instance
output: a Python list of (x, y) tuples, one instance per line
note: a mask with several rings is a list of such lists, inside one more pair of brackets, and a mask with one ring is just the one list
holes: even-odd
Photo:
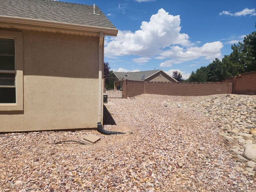
[(169, 15), (164, 9), (159, 9), (149, 22), (141, 23), (140, 30), (119, 31), (117, 37), (107, 42), (105, 55), (152, 57), (172, 44), (191, 45), (189, 36), (180, 30), (180, 16)]

